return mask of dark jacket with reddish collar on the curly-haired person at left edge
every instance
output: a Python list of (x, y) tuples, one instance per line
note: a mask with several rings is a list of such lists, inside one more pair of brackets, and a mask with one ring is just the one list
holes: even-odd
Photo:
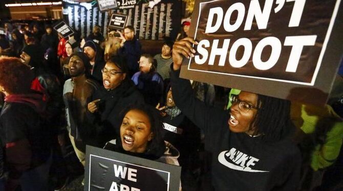
[(0, 138), (9, 179), (18, 179), (50, 156), (49, 129), (40, 123), (45, 105), (40, 94), (12, 94), (0, 114)]

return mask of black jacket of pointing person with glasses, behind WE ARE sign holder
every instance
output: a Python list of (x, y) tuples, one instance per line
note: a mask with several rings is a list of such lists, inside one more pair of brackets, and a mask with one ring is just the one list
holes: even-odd
[(144, 103), (141, 93), (131, 80), (125, 79), (118, 87), (106, 90), (103, 86), (96, 90), (88, 103), (100, 99), (98, 111), (91, 113), (87, 110), (87, 117), (94, 124), (93, 143), (95, 147), (104, 144), (119, 134), (119, 113), (131, 104)]

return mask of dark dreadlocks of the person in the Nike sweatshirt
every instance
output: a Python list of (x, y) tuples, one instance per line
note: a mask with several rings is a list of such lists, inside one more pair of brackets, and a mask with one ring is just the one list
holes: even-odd
[(262, 134), (266, 142), (274, 142), (288, 136), (293, 130), (290, 119), (290, 101), (258, 94), (258, 106), (254, 120), (255, 135)]

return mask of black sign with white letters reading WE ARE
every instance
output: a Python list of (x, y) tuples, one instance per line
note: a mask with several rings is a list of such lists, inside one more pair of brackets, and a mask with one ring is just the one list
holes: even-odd
[(179, 190), (181, 167), (86, 147), (84, 190)]

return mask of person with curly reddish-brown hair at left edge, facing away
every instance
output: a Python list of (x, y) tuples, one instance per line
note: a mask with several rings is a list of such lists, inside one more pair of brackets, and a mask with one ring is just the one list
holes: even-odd
[(30, 89), (32, 77), (19, 59), (0, 59), (0, 88), (6, 94), (0, 139), (9, 171), (5, 190), (48, 190), (50, 129), (40, 124), (45, 107), (41, 94)]

